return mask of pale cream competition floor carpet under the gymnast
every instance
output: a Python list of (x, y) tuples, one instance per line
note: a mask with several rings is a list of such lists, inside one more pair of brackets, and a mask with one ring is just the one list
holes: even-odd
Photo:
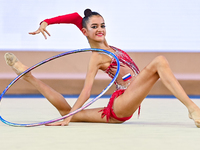
[[(76, 97), (66, 97), (72, 105)], [(200, 106), (200, 98), (192, 99)], [(104, 97), (92, 107), (106, 106)], [(59, 117), (43, 97), (5, 97), (0, 113), (11, 122), (30, 123)], [(144, 100), (123, 124), (70, 123), (65, 127), (11, 127), (0, 122), (1, 150), (199, 150), (200, 129), (175, 98)]]

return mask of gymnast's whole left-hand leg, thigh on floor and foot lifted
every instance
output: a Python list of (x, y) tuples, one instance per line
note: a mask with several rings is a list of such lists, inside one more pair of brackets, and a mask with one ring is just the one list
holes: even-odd
[[(27, 70), (28, 67), (23, 65), (17, 57), (12, 53), (5, 54), (6, 63), (12, 67), (12, 69), (19, 75), (23, 71)], [(31, 83), (44, 97), (46, 97), (49, 102), (54, 105), (59, 113), (63, 116), (70, 112), (71, 107), (65, 100), (65, 98), (53, 90), (51, 87), (35, 78), (31, 72), (23, 76), (23, 79)], [(103, 108), (86, 109), (73, 115), (72, 122), (107, 122), (106, 117), (102, 118), (100, 110)], [(116, 119), (110, 119), (110, 123), (121, 123)]]

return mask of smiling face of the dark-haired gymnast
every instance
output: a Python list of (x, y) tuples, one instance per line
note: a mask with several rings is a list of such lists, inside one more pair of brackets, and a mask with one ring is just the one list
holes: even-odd
[(106, 36), (104, 19), (101, 16), (91, 16), (87, 21), (87, 28), (83, 29), (83, 34), (89, 41), (103, 42)]

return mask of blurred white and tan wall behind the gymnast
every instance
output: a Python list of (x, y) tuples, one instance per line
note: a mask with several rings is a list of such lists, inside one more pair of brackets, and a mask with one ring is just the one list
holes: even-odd
[[(200, 95), (199, 0), (0, 0), (0, 90), (16, 77), (5, 64), (3, 55), (7, 51), (31, 66), (64, 51), (88, 48), (86, 38), (74, 25), (48, 26), (51, 36), (47, 40), (41, 34), (28, 34), (46, 18), (73, 12), (83, 16), (86, 8), (104, 17), (108, 43), (128, 52), (140, 69), (156, 56), (164, 55), (187, 93)], [(89, 56), (90, 53), (73, 54), (34, 72), (61, 93), (78, 94)], [(96, 82), (101, 91), (109, 79), (100, 72)], [(37, 93), (26, 83), (17, 84), (8, 93)], [(93, 94), (96, 93), (99, 91), (94, 89)], [(158, 81), (150, 94), (171, 93)]]

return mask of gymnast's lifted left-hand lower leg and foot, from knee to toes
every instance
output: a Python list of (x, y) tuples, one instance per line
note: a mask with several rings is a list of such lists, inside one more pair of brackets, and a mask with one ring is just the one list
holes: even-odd
[[(12, 53), (6, 53), (4, 57), (6, 63), (12, 67), (17, 75), (28, 69), (28, 67), (23, 65)], [(44, 97), (46, 97), (48, 101), (57, 108), (61, 115), (66, 115), (70, 112), (71, 106), (67, 103), (65, 98), (57, 91), (35, 78), (31, 72), (25, 74), (23, 79), (32, 84)]]

